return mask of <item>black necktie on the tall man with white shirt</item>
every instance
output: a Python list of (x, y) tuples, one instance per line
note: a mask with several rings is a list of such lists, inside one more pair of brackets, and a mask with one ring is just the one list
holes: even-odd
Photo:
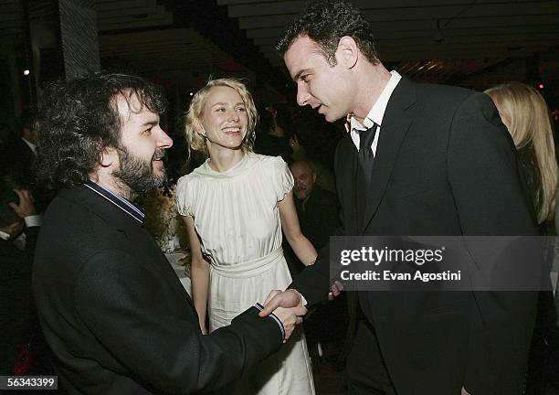
[(369, 181), (371, 180), (371, 173), (373, 172), (374, 155), (371, 145), (374, 141), (374, 136), (378, 130), (377, 124), (374, 123), (369, 129), (359, 131), (359, 153), (357, 165), (357, 179), (356, 179), (356, 200), (357, 200), (357, 216), (360, 221), (364, 220), (364, 210), (367, 203), (367, 190)]

